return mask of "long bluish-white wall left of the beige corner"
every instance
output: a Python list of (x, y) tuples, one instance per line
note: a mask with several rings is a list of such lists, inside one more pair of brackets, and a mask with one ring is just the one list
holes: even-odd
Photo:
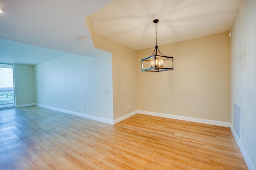
[(102, 90), (112, 88), (110, 75), (111, 55), (90, 58), (70, 53), (37, 64), (36, 103), (111, 120), (112, 93), (103, 96)]

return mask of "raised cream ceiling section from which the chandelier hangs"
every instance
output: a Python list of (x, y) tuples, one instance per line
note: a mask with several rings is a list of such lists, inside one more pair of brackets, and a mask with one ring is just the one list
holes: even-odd
[(115, 0), (90, 17), (94, 31), (132, 49), (229, 31), (242, 0)]

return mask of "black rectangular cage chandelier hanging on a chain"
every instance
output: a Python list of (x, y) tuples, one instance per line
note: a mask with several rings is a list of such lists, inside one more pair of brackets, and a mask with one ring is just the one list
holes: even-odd
[[(158, 21), (159, 20), (154, 20), (153, 22), (156, 24)], [(159, 51), (157, 46), (157, 36), (155, 45), (156, 46), (154, 52), (149, 57), (141, 60), (141, 70), (156, 72), (173, 70), (173, 57), (165, 56)], [(162, 55), (158, 55), (158, 52)]]

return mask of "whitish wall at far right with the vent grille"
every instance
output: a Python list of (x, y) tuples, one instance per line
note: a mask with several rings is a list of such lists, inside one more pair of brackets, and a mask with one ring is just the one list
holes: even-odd
[[(244, 134), (240, 142), (256, 168), (256, 0), (244, 0), (231, 31), (231, 124), (234, 127), (234, 103), (241, 107)], [(249, 137), (249, 143), (247, 138)], [(250, 168), (250, 167), (249, 167)]]

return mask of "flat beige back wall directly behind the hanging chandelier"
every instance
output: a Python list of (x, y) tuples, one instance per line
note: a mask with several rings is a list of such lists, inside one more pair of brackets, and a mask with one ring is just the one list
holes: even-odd
[(138, 110), (229, 122), (229, 48), (228, 32), (162, 45), (160, 52), (174, 57), (174, 70), (158, 73), (140, 65), (154, 47), (137, 51)]

